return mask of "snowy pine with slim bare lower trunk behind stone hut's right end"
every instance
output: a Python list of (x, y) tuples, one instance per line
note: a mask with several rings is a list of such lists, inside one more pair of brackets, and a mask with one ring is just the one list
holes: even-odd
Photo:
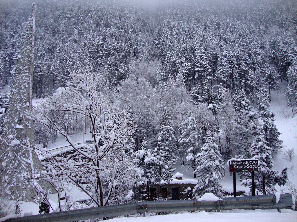
[[(202, 131), (198, 128), (197, 120), (192, 112), (184, 123), (181, 123), (179, 126), (181, 137), (178, 141), (182, 144), (179, 149), (182, 154), (185, 153), (186, 165), (189, 166), (186, 171), (190, 168), (195, 171), (197, 168), (197, 153), (200, 152), (201, 147)], [(196, 173), (194, 172), (193, 174), (194, 178), (196, 178)]]

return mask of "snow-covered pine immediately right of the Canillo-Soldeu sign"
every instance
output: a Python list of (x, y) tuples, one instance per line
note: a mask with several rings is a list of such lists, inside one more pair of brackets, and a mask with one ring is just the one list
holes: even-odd
[[(272, 161), (272, 148), (268, 146), (265, 140), (264, 122), (257, 121), (256, 137), (251, 145), (251, 156), (259, 161), (259, 172), (255, 173), (255, 190), (261, 194), (273, 194), (276, 190), (274, 186), (279, 184), (283, 186), (287, 183), (287, 168), (282, 172), (274, 170)], [(251, 186), (248, 179), (241, 182), (246, 186)]]

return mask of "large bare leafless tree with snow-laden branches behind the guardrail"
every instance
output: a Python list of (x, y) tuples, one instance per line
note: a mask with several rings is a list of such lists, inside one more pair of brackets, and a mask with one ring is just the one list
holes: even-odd
[[(113, 94), (102, 75), (71, 73), (65, 88), (57, 89), (28, 113), (32, 120), (64, 136), (75, 151), (55, 156), (42, 154), (45, 168), (52, 170), (48, 177), (74, 184), (95, 206), (124, 202), (125, 197), (132, 195), (137, 175), (129, 152), (134, 145), (134, 126), (128, 110), (113, 104)], [(89, 120), (94, 132), (93, 146), (77, 146), (72, 141), (69, 126), (74, 118)]]

